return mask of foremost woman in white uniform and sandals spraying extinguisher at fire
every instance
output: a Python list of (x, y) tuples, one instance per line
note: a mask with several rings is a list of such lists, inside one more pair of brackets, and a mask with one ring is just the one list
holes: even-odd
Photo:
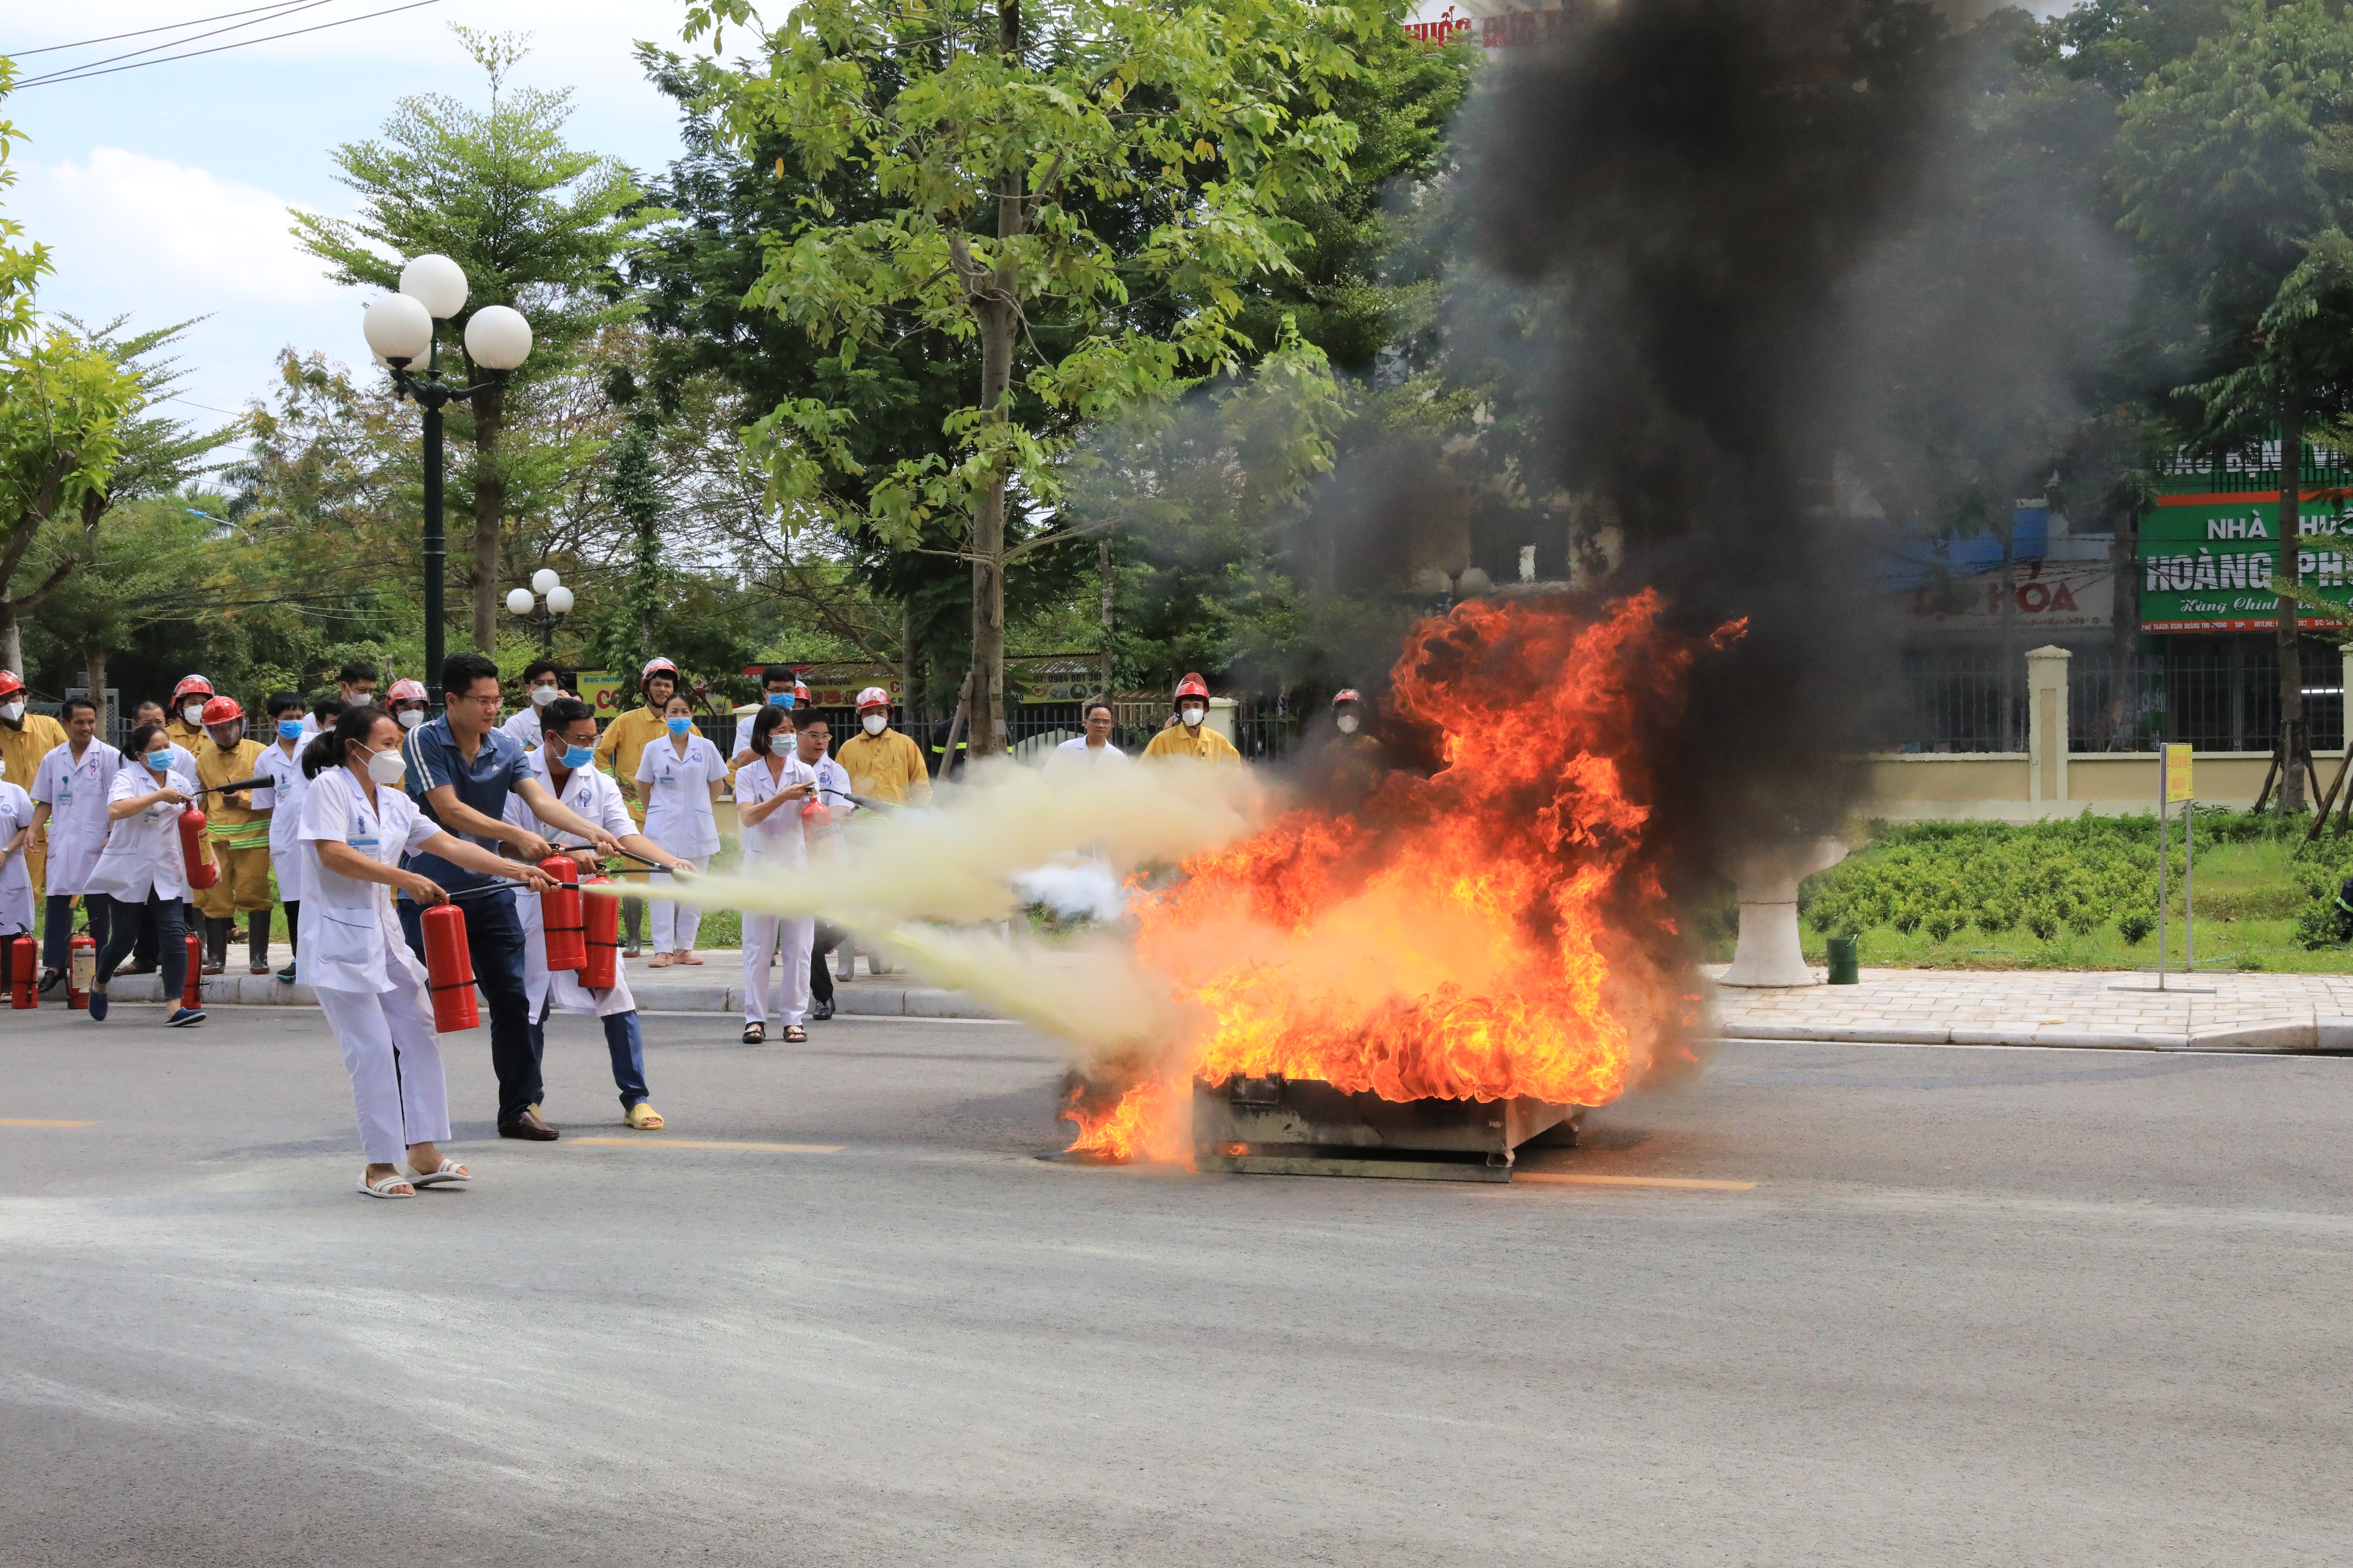
[[(513, 877), (546, 889), (536, 865), (504, 860), (452, 837), (400, 792), (407, 764), (400, 724), (381, 708), (351, 708), (334, 729), (313, 738), (301, 757), (308, 788), (301, 799), (304, 865), (301, 973), (344, 1048), (351, 1100), (360, 1114), (367, 1168), (360, 1192), (376, 1199), (416, 1197), (419, 1187), (464, 1182), (466, 1166), (445, 1159), (449, 1088), (433, 1034), (426, 969), (400, 936), (393, 889), (421, 905), (447, 896), (405, 856), (431, 853), (487, 877)], [(409, 1175), (400, 1173), (407, 1154)]]

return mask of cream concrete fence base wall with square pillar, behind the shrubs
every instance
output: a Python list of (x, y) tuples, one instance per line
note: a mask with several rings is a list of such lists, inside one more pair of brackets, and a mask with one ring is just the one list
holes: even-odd
[[(2031, 823), (2052, 816), (2125, 816), (2155, 811), (2155, 752), (2066, 750), (2066, 649), (2026, 656), (2026, 750), (2024, 752), (1882, 752), (1868, 759), (1864, 816), (1892, 823)], [(2353, 651), (2346, 654), (2346, 691), (2353, 691)], [(2339, 757), (2315, 757), (2315, 790), (2327, 790), (2344, 766)], [(2193, 783), (2198, 799), (2247, 809), (2271, 752), (2198, 752)]]

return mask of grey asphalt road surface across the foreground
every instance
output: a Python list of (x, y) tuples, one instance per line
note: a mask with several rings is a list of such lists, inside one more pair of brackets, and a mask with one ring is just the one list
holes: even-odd
[(1541, 1159), (1722, 1192), (1073, 1168), (1014, 1025), (732, 1034), (671, 1147), (454, 1041), (478, 1182), (379, 1204), (315, 1016), (0, 1013), (89, 1121), (0, 1126), (0, 1561), (2353, 1561), (2353, 1060), (1727, 1046)]

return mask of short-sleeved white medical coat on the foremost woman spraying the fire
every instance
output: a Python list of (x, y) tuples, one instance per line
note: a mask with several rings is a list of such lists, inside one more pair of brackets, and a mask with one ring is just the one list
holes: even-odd
[(304, 898), (301, 978), (341, 992), (424, 987), (426, 966), (409, 952), (393, 912), (393, 889), (327, 870), (320, 844), (351, 844), (376, 865), (400, 865), (440, 827), (398, 785), (376, 785), (376, 802), (351, 769), (327, 769), (301, 797)]

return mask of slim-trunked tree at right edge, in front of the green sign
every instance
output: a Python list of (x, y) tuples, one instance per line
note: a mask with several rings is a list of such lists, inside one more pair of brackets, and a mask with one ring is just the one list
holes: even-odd
[[(2353, 395), (2353, 21), (2327, 0), (2231, 5), (2231, 26), (2125, 103), (2125, 233), (2195, 303), (2205, 444), (2280, 430), (2280, 562), (2297, 583), (2313, 418)], [(2297, 602), (2280, 595), (2282, 811), (2304, 811)]]

